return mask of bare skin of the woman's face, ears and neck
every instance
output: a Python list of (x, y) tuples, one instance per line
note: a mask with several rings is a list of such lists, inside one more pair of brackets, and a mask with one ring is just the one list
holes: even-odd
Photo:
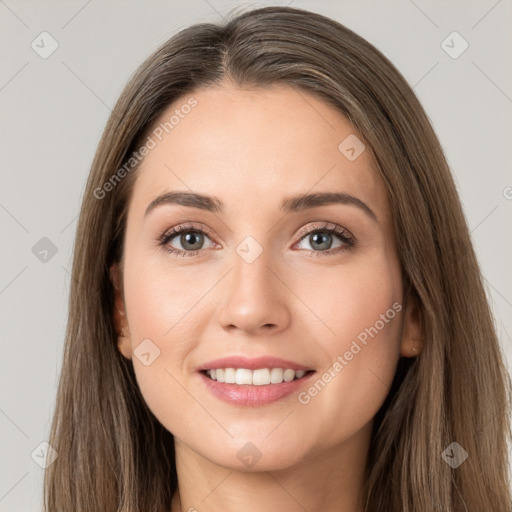
[[(350, 161), (338, 150), (355, 130), (308, 93), (224, 81), (193, 96), (197, 106), (137, 171), (123, 260), (111, 269), (119, 350), (175, 438), (172, 512), (362, 511), (373, 418), (399, 357), (422, 348), (417, 307), (404, 304), (384, 183), (369, 151)], [(225, 210), (164, 205), (144, 215), (171, 190), (215, 196)], [(323, 191), (359, 198), (377, 221), (346, 204), (279, 210), (286, 198)], [(322, 254), (308, 234), (297, 236), (323, 221), (345, 228), (357, 246)], [(188, 222), (213, 234), (195, 256), (158, 245)], [(252, 263), (236, 252), (247, 236), (263, 249)], [(332, 244), (332, 251), (344, 246), (336, 234)], [(168, 245), (186, 250), (180, 235)], [(227, 404), (194, 371), (227, 355), (272, 355), (321, 376), (394, 303), (402, 310), (305, 405), (296, 394), (260, 407)], [(160, 350), (148, 366), (132, 353), (146, 338)], [(250, 468), (237, 457), (248, 442), (261, 453)]]

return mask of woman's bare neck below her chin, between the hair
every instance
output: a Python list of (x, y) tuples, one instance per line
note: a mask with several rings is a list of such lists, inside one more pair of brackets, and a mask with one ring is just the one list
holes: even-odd
[(363, 512), (370, 434), (371, 424), (297, 465), (259, 471), (216, 465), (175, 438), (178, 490), (171, 512)]

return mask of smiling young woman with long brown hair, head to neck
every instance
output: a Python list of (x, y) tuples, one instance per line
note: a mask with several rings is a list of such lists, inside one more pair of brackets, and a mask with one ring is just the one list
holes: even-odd
[(143, 63), (73, 275), (48, 511), (510, 510), (509, 376), (453, 179), (342, 25), (257, 9)]

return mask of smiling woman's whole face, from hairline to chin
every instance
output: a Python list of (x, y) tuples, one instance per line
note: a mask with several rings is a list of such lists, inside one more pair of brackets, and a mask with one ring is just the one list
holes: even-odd
[[(367, 442), (398, 358), (418, 352), (384, 184), (355, 130), (304, 91), (224, 82), (176, 101), (150, 137), (116, 323), (151, 411), (242, 470)], [(211, 363), (230, 357), (250, 361)]]

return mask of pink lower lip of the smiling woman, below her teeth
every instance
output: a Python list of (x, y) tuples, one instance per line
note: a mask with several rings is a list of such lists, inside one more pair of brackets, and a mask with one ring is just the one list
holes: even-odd
[(226, 384), (210, 379), (199, 372), (199, 377), (206, 388), (213, 395), (224, 402), (232, 405), (241, 405), (249, 407), (258, 407), (260, 405), (271, 404), (281, 398), (285, 398), (300, 388), (305, 386), (315, 372), (309, 373), (301, 379), (295, 379), (290, 382), (281, 382), (281, 384), (267, 384), (264, 386), (250, 386), (247, 384)]

